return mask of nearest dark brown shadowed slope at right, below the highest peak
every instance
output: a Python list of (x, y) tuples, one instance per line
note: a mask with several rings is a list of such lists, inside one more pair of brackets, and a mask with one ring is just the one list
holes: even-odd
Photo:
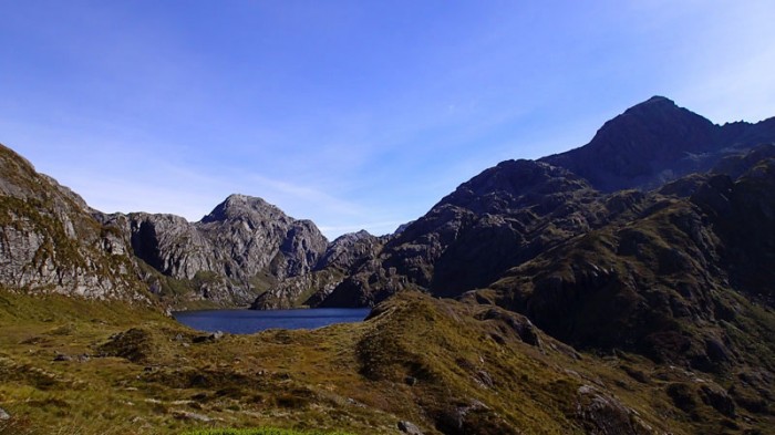
[(579, 348), (707, 372), (766, 364), (775, 346), (751, 354), (734, 336), (766, 329), (752, 325), (767, 322), (753, 303), (775, 307), (775, 159), (741, 159), (752, 162), (746, 172), (705, 175), (689, 197), (637, 197), (629, 213), (512, 269), (485, 293)]

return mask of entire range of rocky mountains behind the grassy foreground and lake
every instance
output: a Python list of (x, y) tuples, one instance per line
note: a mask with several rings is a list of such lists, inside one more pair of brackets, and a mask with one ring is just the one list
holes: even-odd
[[(376, 305), (372, 317), (396, 294), (453, 298), (492, 307), (476, 315), (520, 342), (546, 334), (715, 376), (665, 400), (734, 432), (774, 422), (773, 191), (775, 117), (716, 125), (661, 96), (583, 146), (485, 169), (392, 235), (333, 241), (244, 195), (197, 222), (104, 214), (2, 147), (0, 286), (166, 310)], [(632, 422), (587, 432), (651, 433)]]

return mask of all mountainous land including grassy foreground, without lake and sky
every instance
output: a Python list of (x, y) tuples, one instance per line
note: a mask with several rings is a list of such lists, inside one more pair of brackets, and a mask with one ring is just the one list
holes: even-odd
[[(0, 148), (0, 433), (771, 433), (774, 133), (655, 97), (332, 242), (240, 195), (105, 215)], [(374, 309), (255, 335), (157, 309), (250, 301)]]

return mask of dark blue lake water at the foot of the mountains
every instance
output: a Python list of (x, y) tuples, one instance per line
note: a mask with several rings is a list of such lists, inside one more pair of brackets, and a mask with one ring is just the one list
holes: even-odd
[(203, 310), (179, 311), (175, 319), (186, 327), (207, 332), (250, 334), (267, 329), (316, 329), (332, 323), (360, 322), (369, 308), (312, 308), (304, 310)]

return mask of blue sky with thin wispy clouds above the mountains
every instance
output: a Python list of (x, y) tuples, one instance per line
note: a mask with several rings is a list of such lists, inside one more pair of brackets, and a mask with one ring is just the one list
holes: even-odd
[(0, 143), (105, 213), (392, 232), (663, 95), (775, 116), (775, 2), (0, 0)]

